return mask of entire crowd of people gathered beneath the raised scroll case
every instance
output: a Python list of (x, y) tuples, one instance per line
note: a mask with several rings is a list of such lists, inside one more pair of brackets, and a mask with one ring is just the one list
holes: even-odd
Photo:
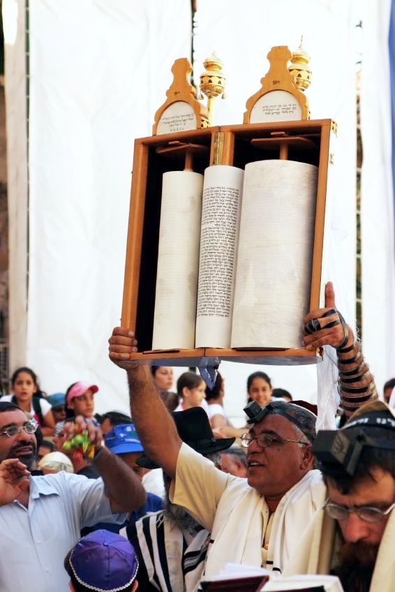
[(0, 399), (1, 591), (195, 592), (227, 563), (394, 589), (395, 379), (380, 401), (330, 284), (304, 332), (336, 350), (340, 429), (317, 434), (315, 406), (261, 371), (235, 428), (220, 373), (209, 389), (190, 370), (172, 392), (172, 369), (131, 362), (122, 327), (110, 359), (130, 415), (95, 415), (97, 385), (47, 396), (17, 369)]

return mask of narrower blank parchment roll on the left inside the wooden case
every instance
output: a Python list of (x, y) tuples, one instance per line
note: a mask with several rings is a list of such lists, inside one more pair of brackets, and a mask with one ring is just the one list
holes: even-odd
[(163, 174), (153, 350), (195, 344), (202, 188), (198, 172)]

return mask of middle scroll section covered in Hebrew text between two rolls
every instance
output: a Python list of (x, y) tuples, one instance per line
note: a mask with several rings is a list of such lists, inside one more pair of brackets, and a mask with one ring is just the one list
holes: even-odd
[(204, 171), (195, 346), (229, 348), (244, 172)]

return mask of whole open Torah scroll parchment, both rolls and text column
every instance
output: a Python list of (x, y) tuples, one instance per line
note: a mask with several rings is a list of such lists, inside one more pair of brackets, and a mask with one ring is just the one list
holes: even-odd
[(153, 350), (301, 347), (317, 179), (288, 160), (164, 173)]

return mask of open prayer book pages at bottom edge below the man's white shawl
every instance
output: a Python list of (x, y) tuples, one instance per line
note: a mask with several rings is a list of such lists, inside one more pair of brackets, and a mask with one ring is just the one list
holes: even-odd
[(343, 592), (336, 576), (295, 575), (284, 577), (264, 568), (227, 563), (221, 572), (201, 583), (203, 591), (239, 592)]

